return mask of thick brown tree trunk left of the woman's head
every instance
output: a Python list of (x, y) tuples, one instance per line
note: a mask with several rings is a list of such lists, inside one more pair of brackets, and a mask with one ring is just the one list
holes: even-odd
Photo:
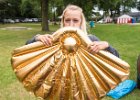
[(41, 0), (42, 31), (49, 31), (48, 11), (49, 11), (49, 0)]

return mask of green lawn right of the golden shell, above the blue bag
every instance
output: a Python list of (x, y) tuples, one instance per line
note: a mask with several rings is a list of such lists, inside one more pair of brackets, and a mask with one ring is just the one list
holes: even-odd
[(140, 25), (96, 25), (93, 33), (106, 40), (131, 66), (130, 79), (136, 80), (136, 59), (140, 54)]

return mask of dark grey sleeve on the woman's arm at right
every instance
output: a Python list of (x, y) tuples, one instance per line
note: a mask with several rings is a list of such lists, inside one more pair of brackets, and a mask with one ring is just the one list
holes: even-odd
[[(100, 41), (95, 35), (89, 35), (88, 37), (90, 38), (91, 41)], [(113, 55), (119, 57), (118, 51), (116, 49), (114, 49), (112, 46), (109, 46), (105, 50), (107, 50), (110, 53), (112, 53)]]

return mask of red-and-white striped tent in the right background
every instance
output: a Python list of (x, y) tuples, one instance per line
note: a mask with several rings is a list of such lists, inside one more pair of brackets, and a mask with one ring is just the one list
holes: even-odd
[(120, 17), (118, 17), (118, 19), (117, 19), (117, 23), (118, 24), (123, 24), (123, 23), (132, 23), (132, 17), (131, 16), (129, 16), (129, 15), (122, 15), (122, 16), (120, 16)]

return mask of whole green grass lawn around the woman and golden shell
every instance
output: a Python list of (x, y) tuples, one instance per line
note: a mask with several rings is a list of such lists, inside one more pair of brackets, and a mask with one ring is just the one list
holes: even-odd
[[(30, 30), (4, 30), (1, 28), (10, 26), (22, 26)], [(50, 26), (50, 32), (59, 26)], [(10, 59), (11, 52), (41, 32), (39, 23), (0, 24), (0, 100), (37, 100), (33, 94), (29, 94), (16, 79), (12, 70)], [(100, 40), (108, 41), (120, 53), (120, 57), (130, 64), (130, 79), (136, 81), (136, 60), (140, 54), (140, 25), (114, 25), (97, 24), (89, 29), (89, 33), (95, 34)], [(135, 89), (132, 93), (121, 100), (139, 100), (140, 90)], [(103, 100), (113, 100), (105, 97)]]

